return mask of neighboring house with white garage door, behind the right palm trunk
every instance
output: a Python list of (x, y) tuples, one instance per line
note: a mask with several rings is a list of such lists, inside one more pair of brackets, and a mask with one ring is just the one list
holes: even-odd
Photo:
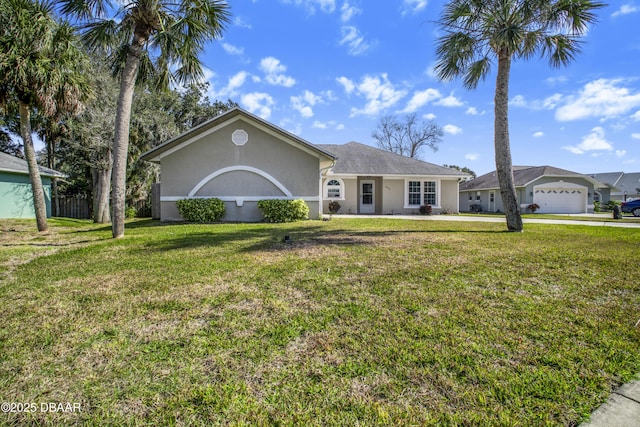
[[(552, 166), (514, 166), (513, 180), (522, 212), (532, 204), (539, 213), (593, 212), (595, 192), (608, 188), (588, 175)], [(504, 212), (495, 171), (460, 185), (460, 209)]]

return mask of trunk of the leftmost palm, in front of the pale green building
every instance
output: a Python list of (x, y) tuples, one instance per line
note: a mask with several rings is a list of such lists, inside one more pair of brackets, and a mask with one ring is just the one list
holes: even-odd
[(29, 179), (31, 180), (31, 190), (33, 193), (33, 208), (36, 212), (36, 223), (38, 231), (47, 231), (47, 206), (44, 201), (44, 189), (40, 179), (40, 170), (36, 162), (36, 150), (31, 139), (31, 111), (24, 102), (19, 102), (20, 111), (20, 134), (24, 143), (24, 157), (29, 167)]

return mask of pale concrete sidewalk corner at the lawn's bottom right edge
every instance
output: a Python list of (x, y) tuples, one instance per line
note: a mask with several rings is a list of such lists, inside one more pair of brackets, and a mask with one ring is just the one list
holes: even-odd
[(640, 426), (640, 380), (630, 382), (614, 391), (591, 419), (580, 427), (638, 427)]

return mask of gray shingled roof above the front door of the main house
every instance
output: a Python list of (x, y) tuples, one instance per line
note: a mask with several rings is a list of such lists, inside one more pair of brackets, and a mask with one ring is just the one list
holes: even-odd
[(420, 175), (468, 176), (464, 172), (390, 153), (358, 142), (319, 144), (338, 158), (332, 172), (336, 175)]

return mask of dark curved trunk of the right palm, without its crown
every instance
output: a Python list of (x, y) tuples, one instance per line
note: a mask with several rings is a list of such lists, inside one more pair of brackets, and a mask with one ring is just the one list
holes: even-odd
[(511, 55), (501, 51), (498, 58), (498, 76), (496, 78), (496, 94), (494, 99), (496, 172), (500, 183), (500, 196), (504, 207), (507, 229), (522, 231), (520, 202), (513, 183), (513, 166), (509, 143), (509, 74), (511, 71)]

